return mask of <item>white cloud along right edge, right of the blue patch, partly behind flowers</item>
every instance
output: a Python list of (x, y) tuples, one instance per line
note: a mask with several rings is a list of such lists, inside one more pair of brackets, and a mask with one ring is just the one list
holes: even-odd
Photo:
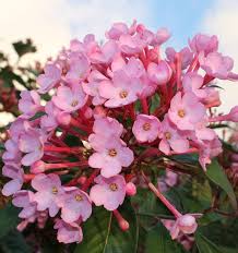
[[(219, 37), (219, 49), (224, 55), (230, 56), (235, 61), (234, 71), (238, 72), (238, 1), (216, 0), (207, 11), (203, 27), (210, 34)], [(219, 82), (225, 88), (221, 92), (224, 105), (222, 110), (228, 111), (238, 105), (238, 82)]]

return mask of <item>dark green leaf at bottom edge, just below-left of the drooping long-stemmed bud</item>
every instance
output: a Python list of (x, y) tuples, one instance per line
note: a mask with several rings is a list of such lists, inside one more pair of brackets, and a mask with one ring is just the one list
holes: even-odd
[(158, 224), (146, 234), (145, 253), (182, 253), (186, 252), (180, 244), (171, 240), (168, 230)]

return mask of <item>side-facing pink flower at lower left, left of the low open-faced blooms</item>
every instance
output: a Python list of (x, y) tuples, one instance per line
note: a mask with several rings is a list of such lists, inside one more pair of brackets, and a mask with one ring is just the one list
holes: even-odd
[(32, 202), (34, 193), (31, 191), (19, 191), (14, 194), (12, 204), (16, 207), (22, 207), (19, 217), (22, 219), (31, 218), (36, 213), (36, 203)]

